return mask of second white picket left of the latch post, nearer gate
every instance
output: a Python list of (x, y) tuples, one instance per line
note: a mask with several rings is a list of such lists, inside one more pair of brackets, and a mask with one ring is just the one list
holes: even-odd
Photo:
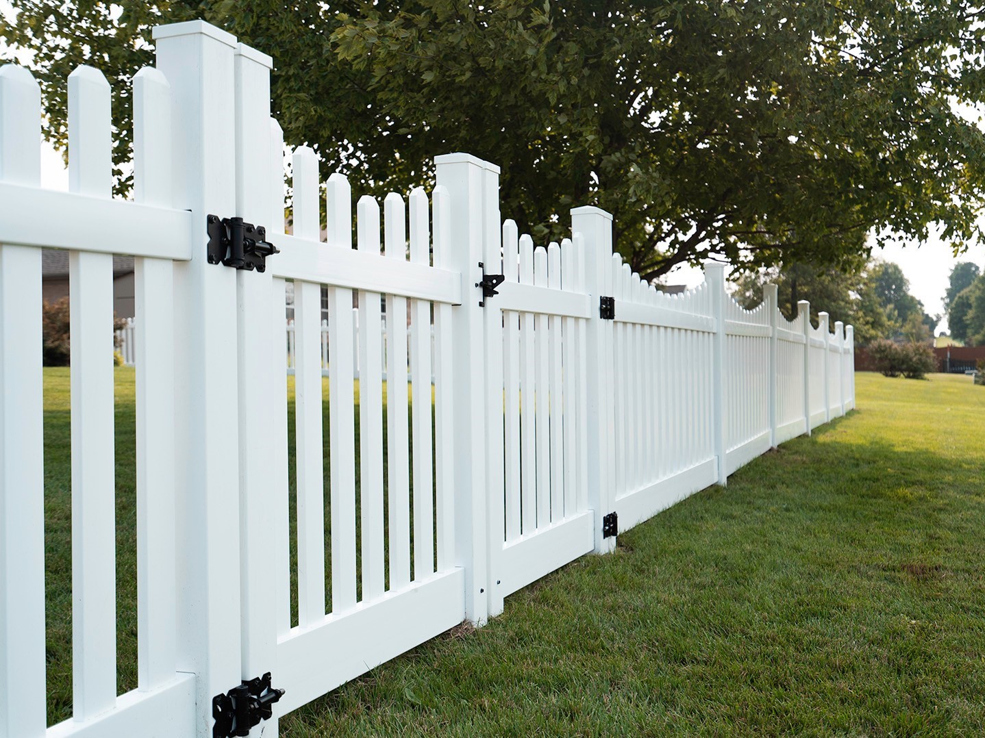
[[(411, 261), (430, 263), (427, 194), (416, 188), (408, 198), (411, 215)], [(411, 301), (411, 376), (414, 394), (414, 579), (434, 572), (434, 478), (431, 467), (430, 303)]]

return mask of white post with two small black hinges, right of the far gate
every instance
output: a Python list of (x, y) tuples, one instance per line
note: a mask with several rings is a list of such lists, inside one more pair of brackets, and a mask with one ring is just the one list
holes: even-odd
[[(571, 232), (581, 234), (585, 245), (582, 286), (591, 298), (592, 317), (587, 321), (588, 373), (588, 506), (595, 511), (595, 553), (616, 548), (615, 536), (604, 538), (602, 518), (616, 505), (614, 468), (617, 462), (614, 436), (616, 408), (613, 393), (613, 322), (602, 320), (599, 298), (613, 295), (613, 216), (586, 206), (571, 211)], [(619, 310), (619, 305), (616, 306)]]

